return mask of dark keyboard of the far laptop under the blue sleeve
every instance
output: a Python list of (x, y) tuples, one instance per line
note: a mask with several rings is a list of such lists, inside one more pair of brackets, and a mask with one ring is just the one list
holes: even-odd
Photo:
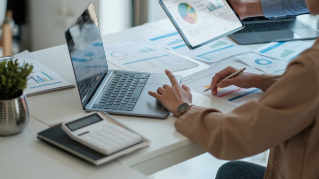
[(270, 31), (270, 30), (283, 30), (283, 29), (302, 29), (308, 28), (298, 21), (282, 21), (282, 22), (267, 22), (267, 23), (248, 23), (245, 24), (245, 28), (236, 32), (260, 32), (260, 31)]

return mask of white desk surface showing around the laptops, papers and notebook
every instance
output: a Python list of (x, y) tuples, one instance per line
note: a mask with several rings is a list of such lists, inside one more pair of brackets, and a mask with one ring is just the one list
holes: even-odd
[[(315, 28), (314, 16), (306, 15), (301, 18), (303, 18), (306, 23), (311, 22)], [(113, 44), (134, 40), (142, 36), (152, 36), (172, 28), (173, 26), (168, 19), (164, 19), (133, 27), (118, 33), (105, 35), (103, 36), (103, 41), (104, 44)], [(262, 44), (248, 45), (248, 47), (255, 49), (261, 45)], [(39, 50), (32, 52), (32, 54), (43, 64), (75, 84), (66, 45)], [(199, 66), (174, 74), (186, 76), (210, 66), (210, 64), (193, 59), (190, 60), (195, 61)], [(223, 60), (221, 63), (237, 68), (247, 66), (239, 60), (236, 60), (234, 57)], [(111, 63), (109, 63), (109, 68), (119, 69)], [(247, 71), (261, 73), (250, 67), (247, 67)], [(222, 112), (229, 112), (235, 108), (232, 105), (193, 91), (192, 95), (193, 103), (196, 105), (214, 107)], [(176, 118), (172, 115), (164, 120), (147, 117), (113, 115), (124, 124), (148, 137), (152, 141), (151, 145), (148, 148), (118, 158), (108, 164), (95, 167), (36, 139), (36, 133), (48, 126), (70, 120), (85, 113), (82, 109), (77, 89), (66, 89), (28, 97), (28, 102), (31, 116), (34, 119), (31, 119), (30, 123), (21, 134), (0, 138), (0, 171), (1, 176), (4, 175), (7, 176), (7, 178), (21, 178), (22, 176), (31, 176), (30, 178), (34, 179), (64, 178), (64, 176), (67, 176), (69, 179), (99, 178), (102, 176), (130, 179), (136, 176), (136, 178), (143, 178), (145, 175), (153, 174), (204, 152), (175, 130), (173, 123)], [(8, 152), (11, 155), (6, 155)], [(12, 157), (13, 155), (14, 159)], [(15, 167), (15, 165), (17, 167)], [(19, 168), (21, 168), (21, 172), (15, 172), (15, 169)], [(142, 172), (143, 174), (137, 171)]]

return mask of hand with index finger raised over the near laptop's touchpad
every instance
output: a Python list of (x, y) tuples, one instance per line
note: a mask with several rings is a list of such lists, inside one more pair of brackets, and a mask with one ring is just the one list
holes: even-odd
[(178, 106), (185, 102), (191, 103), (192, 101), (190, 89), (185, 85), (180, 86), (170, 71), (165, 70), (165, 73), (170, 80), (171, 86), (165, 84), (157, 92), (149, 91), (149, 94), (157, 98), (175, 116), (179, 116), (180, 114), (177, 112)]

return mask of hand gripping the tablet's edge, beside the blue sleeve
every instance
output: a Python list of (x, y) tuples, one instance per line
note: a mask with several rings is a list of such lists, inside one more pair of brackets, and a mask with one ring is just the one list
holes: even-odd
[(264, 16), (260, 0), (228, 0), (241, 19)]

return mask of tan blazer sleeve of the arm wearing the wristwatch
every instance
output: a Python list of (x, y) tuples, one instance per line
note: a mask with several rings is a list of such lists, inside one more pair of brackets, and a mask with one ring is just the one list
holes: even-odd
[(191, 106), (175, 121), (176, 129), (225, 160), (249, 157), (292, 138), (311, 125), (318, 108), (318, 65), (307, 60), (311, 57), (304, 53), (291, 62), (281, 80), (268, 85), (259, 100), (251, 100), (227, 114)]

